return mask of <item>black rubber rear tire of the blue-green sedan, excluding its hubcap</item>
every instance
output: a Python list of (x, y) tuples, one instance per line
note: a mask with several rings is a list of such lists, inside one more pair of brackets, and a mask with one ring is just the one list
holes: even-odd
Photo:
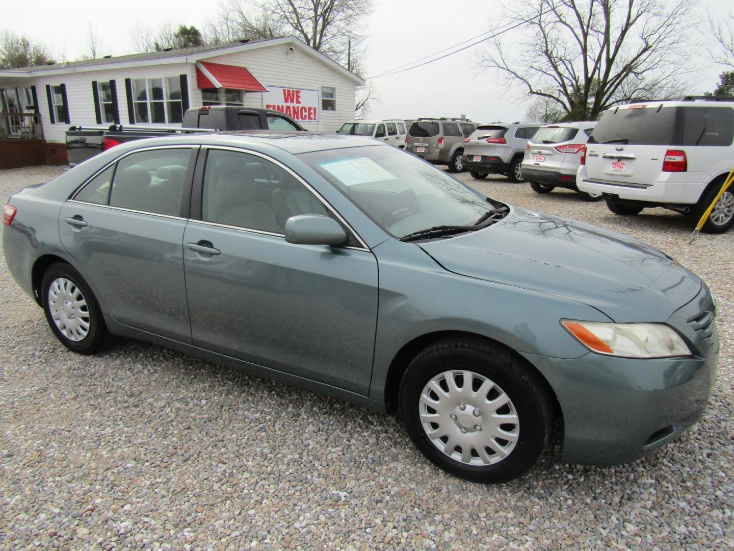
[[(77, 306), (76, 309), (72, 308), (67, 312), (69, 315), (73, 316), (73, 319), (86, 320), (85, 323), (88, 325), (86, 334), (81, 334), (83, 330), (78, 330), (79, 333), (75, 334), (73, 330), (64, 325), (63, 321), (60, 322), (62, 327), (65, 327), (65, 331), (76, 336), (76, 339), (65, 334), (65, 332), (62, 331), (62, 329), (59, 328), (59, 325), (54, 321), (50, 292), (51, 285), (57, 281), (67, 281), (69, 284), (67, 290), (63, 290), (62, 287), (57, 287), (57, 289), (62, 289), (62, 292), (66, 293), (76, 293), (78, 289), (78, 292), (81, 293), (81, 298), (86, 302), (86, 306)], [(90, 289), (87, 282), (84, 281), (84, 278), (82, 278), (79, 272), (72, 266), (63, 262), (51, 264), (51, 266), (46, 270), (46, 273), (43, 274), (40, 295), (43, 303), (43, 311), (46, 313), (46, 321), (48, 321), (51, 331), (54, 332), (54, 335), (57, 336), (57, 339), (59, 339), (62, 345), (73, 352), (80, 354), (93, 354), (106, 344), (108, 332), (106, 325), (104, 324), (102, 311), (99, 307), (99, 303), (97, 302), (97, 298), (95, 298), (94, 293), (92, 293), (92, 289)], [(61, 299), (59, 298), (59, 300)], [(73, 305), (70, 305), (69, 308), (71, 308), (71, 306)], [(67, 307), (64, 306), (64, 308), (66, 309)]]

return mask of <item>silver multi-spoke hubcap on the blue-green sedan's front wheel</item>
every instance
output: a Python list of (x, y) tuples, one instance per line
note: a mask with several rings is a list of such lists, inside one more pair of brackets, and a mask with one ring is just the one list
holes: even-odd
[(418, 414), (433, 445), (467, 465), (502, 461), (520, 436), (512, 400), (473, 371), (446, 371), (432, 378), (421, 392)]

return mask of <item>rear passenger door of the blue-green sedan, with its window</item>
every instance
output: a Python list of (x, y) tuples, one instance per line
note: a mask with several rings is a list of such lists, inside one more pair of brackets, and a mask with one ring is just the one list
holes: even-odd
[(197, 148), (137, 150), (66, 201), (59, 234), (120, 323), (191, 342), (183, 281), (192, 168)]

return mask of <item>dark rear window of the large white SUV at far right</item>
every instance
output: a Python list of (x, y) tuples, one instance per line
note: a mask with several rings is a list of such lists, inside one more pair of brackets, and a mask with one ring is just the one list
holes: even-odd
[(672, 145), (674, 127), (675, 107), (609, 109), (594, 127), (589, 143)]

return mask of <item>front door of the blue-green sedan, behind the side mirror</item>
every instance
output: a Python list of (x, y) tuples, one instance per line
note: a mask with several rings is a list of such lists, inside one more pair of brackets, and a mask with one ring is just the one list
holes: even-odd
[(288, 217), (336, 215), (261, 154), (206, 148), (195, 182), (183, 236), (194, 344), (366, 395), (377, 320), (371, 251), (353, 234), (354, 246), (286, 242)]

